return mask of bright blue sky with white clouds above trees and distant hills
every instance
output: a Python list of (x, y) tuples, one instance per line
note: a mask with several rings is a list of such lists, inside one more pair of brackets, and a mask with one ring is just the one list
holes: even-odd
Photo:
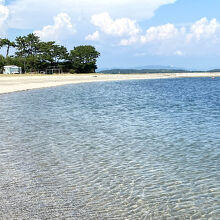
[(0, 38), (93, 45), (100, 69), (208, 70), (220, 68), (219, 9), (219, 0), (0, 0)]

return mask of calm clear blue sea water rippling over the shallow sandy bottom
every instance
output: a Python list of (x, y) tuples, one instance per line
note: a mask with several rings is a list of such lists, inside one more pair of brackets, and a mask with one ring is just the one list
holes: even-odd
[(220, 219), (220, 78), (0, 96), (0, 219)]

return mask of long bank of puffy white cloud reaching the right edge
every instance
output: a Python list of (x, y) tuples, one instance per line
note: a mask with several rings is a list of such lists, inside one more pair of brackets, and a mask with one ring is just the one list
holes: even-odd
[(120, 45), (147, 47), (151, 54), (176, 55), (219, 54), (220, 23), (216, 19), (202, 18), (190, 27), (174, 24), (150, 27), (145, 34), (120, 40)]

